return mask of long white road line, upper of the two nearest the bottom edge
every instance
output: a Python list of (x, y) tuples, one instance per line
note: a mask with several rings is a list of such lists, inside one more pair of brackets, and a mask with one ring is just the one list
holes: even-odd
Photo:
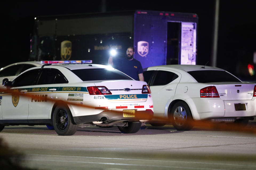
[(242, 165), (242, 164), (225, 164), (225, 163), (207, 163), (207, 162), (188, 162), (188, 161), (172, 161), (172, 160), (151, 160), (151, 159), (129, 159), (129, 158), (106, 158), (94, 156), (65, 156), (65, 155), (42, 155), (42, 154), (25, 154), (25, 155), (39, 155), (39, 156), (58, 156), (71, 158), (95, 158), (95, 159), (116, 159), (116, 160), (135, 160), (135, 161), (150, 161), (150, 162), (173, 162), (173, 163), (192, 163), (192, 164), (212, 164), (212, 165), (227, 165), (227, 166), (248, 166), (256, 167), (256, 165)]

